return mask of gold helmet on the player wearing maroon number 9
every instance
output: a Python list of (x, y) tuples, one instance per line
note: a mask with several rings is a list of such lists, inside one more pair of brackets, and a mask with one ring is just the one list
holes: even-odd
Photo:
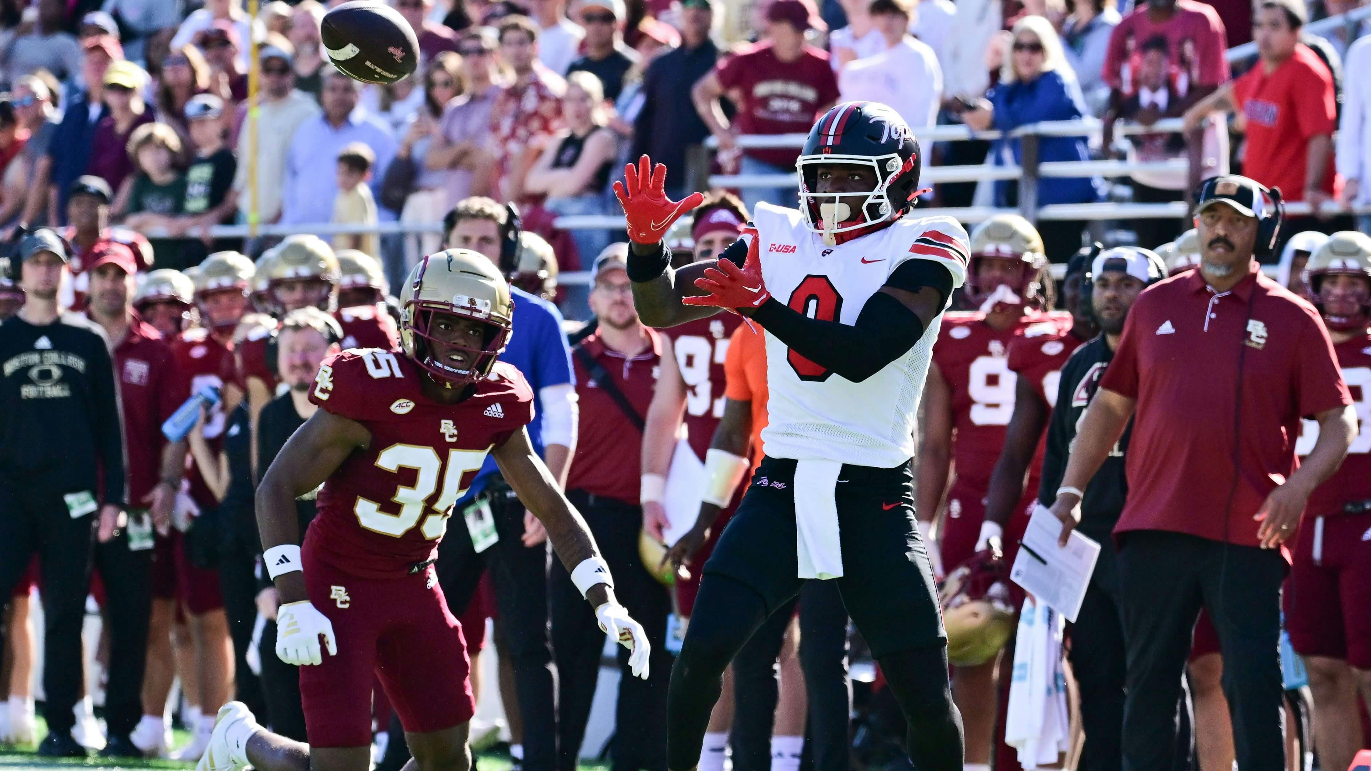
[[(1023, 263), (1023, 278), (1017, 283), (980, 286), (976, 267), (982, 259)], [(1004, 311), (1016, 305), (1042, 305), (1046, 270), (1047, 255), (1038, 229), (1017, 214), (997, 214), (971, 231), (967, 300), (986, 312)]]

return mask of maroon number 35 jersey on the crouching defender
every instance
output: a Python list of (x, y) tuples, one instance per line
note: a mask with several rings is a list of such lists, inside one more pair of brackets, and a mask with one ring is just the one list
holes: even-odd
[(324, 482), (306, 551), (359, 578), (396, 578), (437, 556), (452, 504), (485, 455), (533, 419), (533, 390), (498, 362), (458, 404), (424, 396), (424, 370), (402, 355), (350, 349), (324, 360), (310, 401), (366, 426)]

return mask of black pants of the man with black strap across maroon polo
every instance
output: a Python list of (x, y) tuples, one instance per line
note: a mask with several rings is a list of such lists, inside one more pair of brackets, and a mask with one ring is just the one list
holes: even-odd
[[(613, 771), (666, 770), (666, 683), (672, 656), (666, 652), (666, 616), (670, 597), (638, 557), (643, 509), (622, 501), (568, 490), (566, 497), (585, 518), (600, 555), (614, 575), (614, 594), (647, 630), (653, 645), (648, 679), (628, 668), (628, 649), (618, 646), (618, 701), (614, 711)], [(599, 679), (605, 633), (595, 611), (572, 583), (561, 560), (553, 560), (547, 579), (553, 615), (553, 650), (561, 693), (558, 704), (558, 768), (576, 771), (585, 722), (590, 719)]]

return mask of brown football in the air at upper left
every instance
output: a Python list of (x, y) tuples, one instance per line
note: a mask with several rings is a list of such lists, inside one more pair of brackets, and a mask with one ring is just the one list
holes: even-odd
[(344, 75), (363, 84), (403, 81), (420, 64), (414, 29), (376, 0), (343, 3), (319, 23), (324, 51)]

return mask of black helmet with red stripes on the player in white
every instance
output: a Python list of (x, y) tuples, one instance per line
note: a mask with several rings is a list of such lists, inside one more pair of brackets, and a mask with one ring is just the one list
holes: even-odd
[[(860, 193), (814, 193), (817, 167), (829, 163), (868, 166), (876, 171), (876, 188), (861, 211), (850, 211), (840, 199)], [(847, 101), (832, 107), (809, 130), (799, 151), (799, 211), (809, 229), (828, 244), (839, 233), (860, 236), (894, 220), (914, 205), (919, 188), (919, 141), (909, 125), (879, 101)], [(824, 215), (829, 214), (829, 218)], [(834, 219), (834, 222), (829, 222)]]

